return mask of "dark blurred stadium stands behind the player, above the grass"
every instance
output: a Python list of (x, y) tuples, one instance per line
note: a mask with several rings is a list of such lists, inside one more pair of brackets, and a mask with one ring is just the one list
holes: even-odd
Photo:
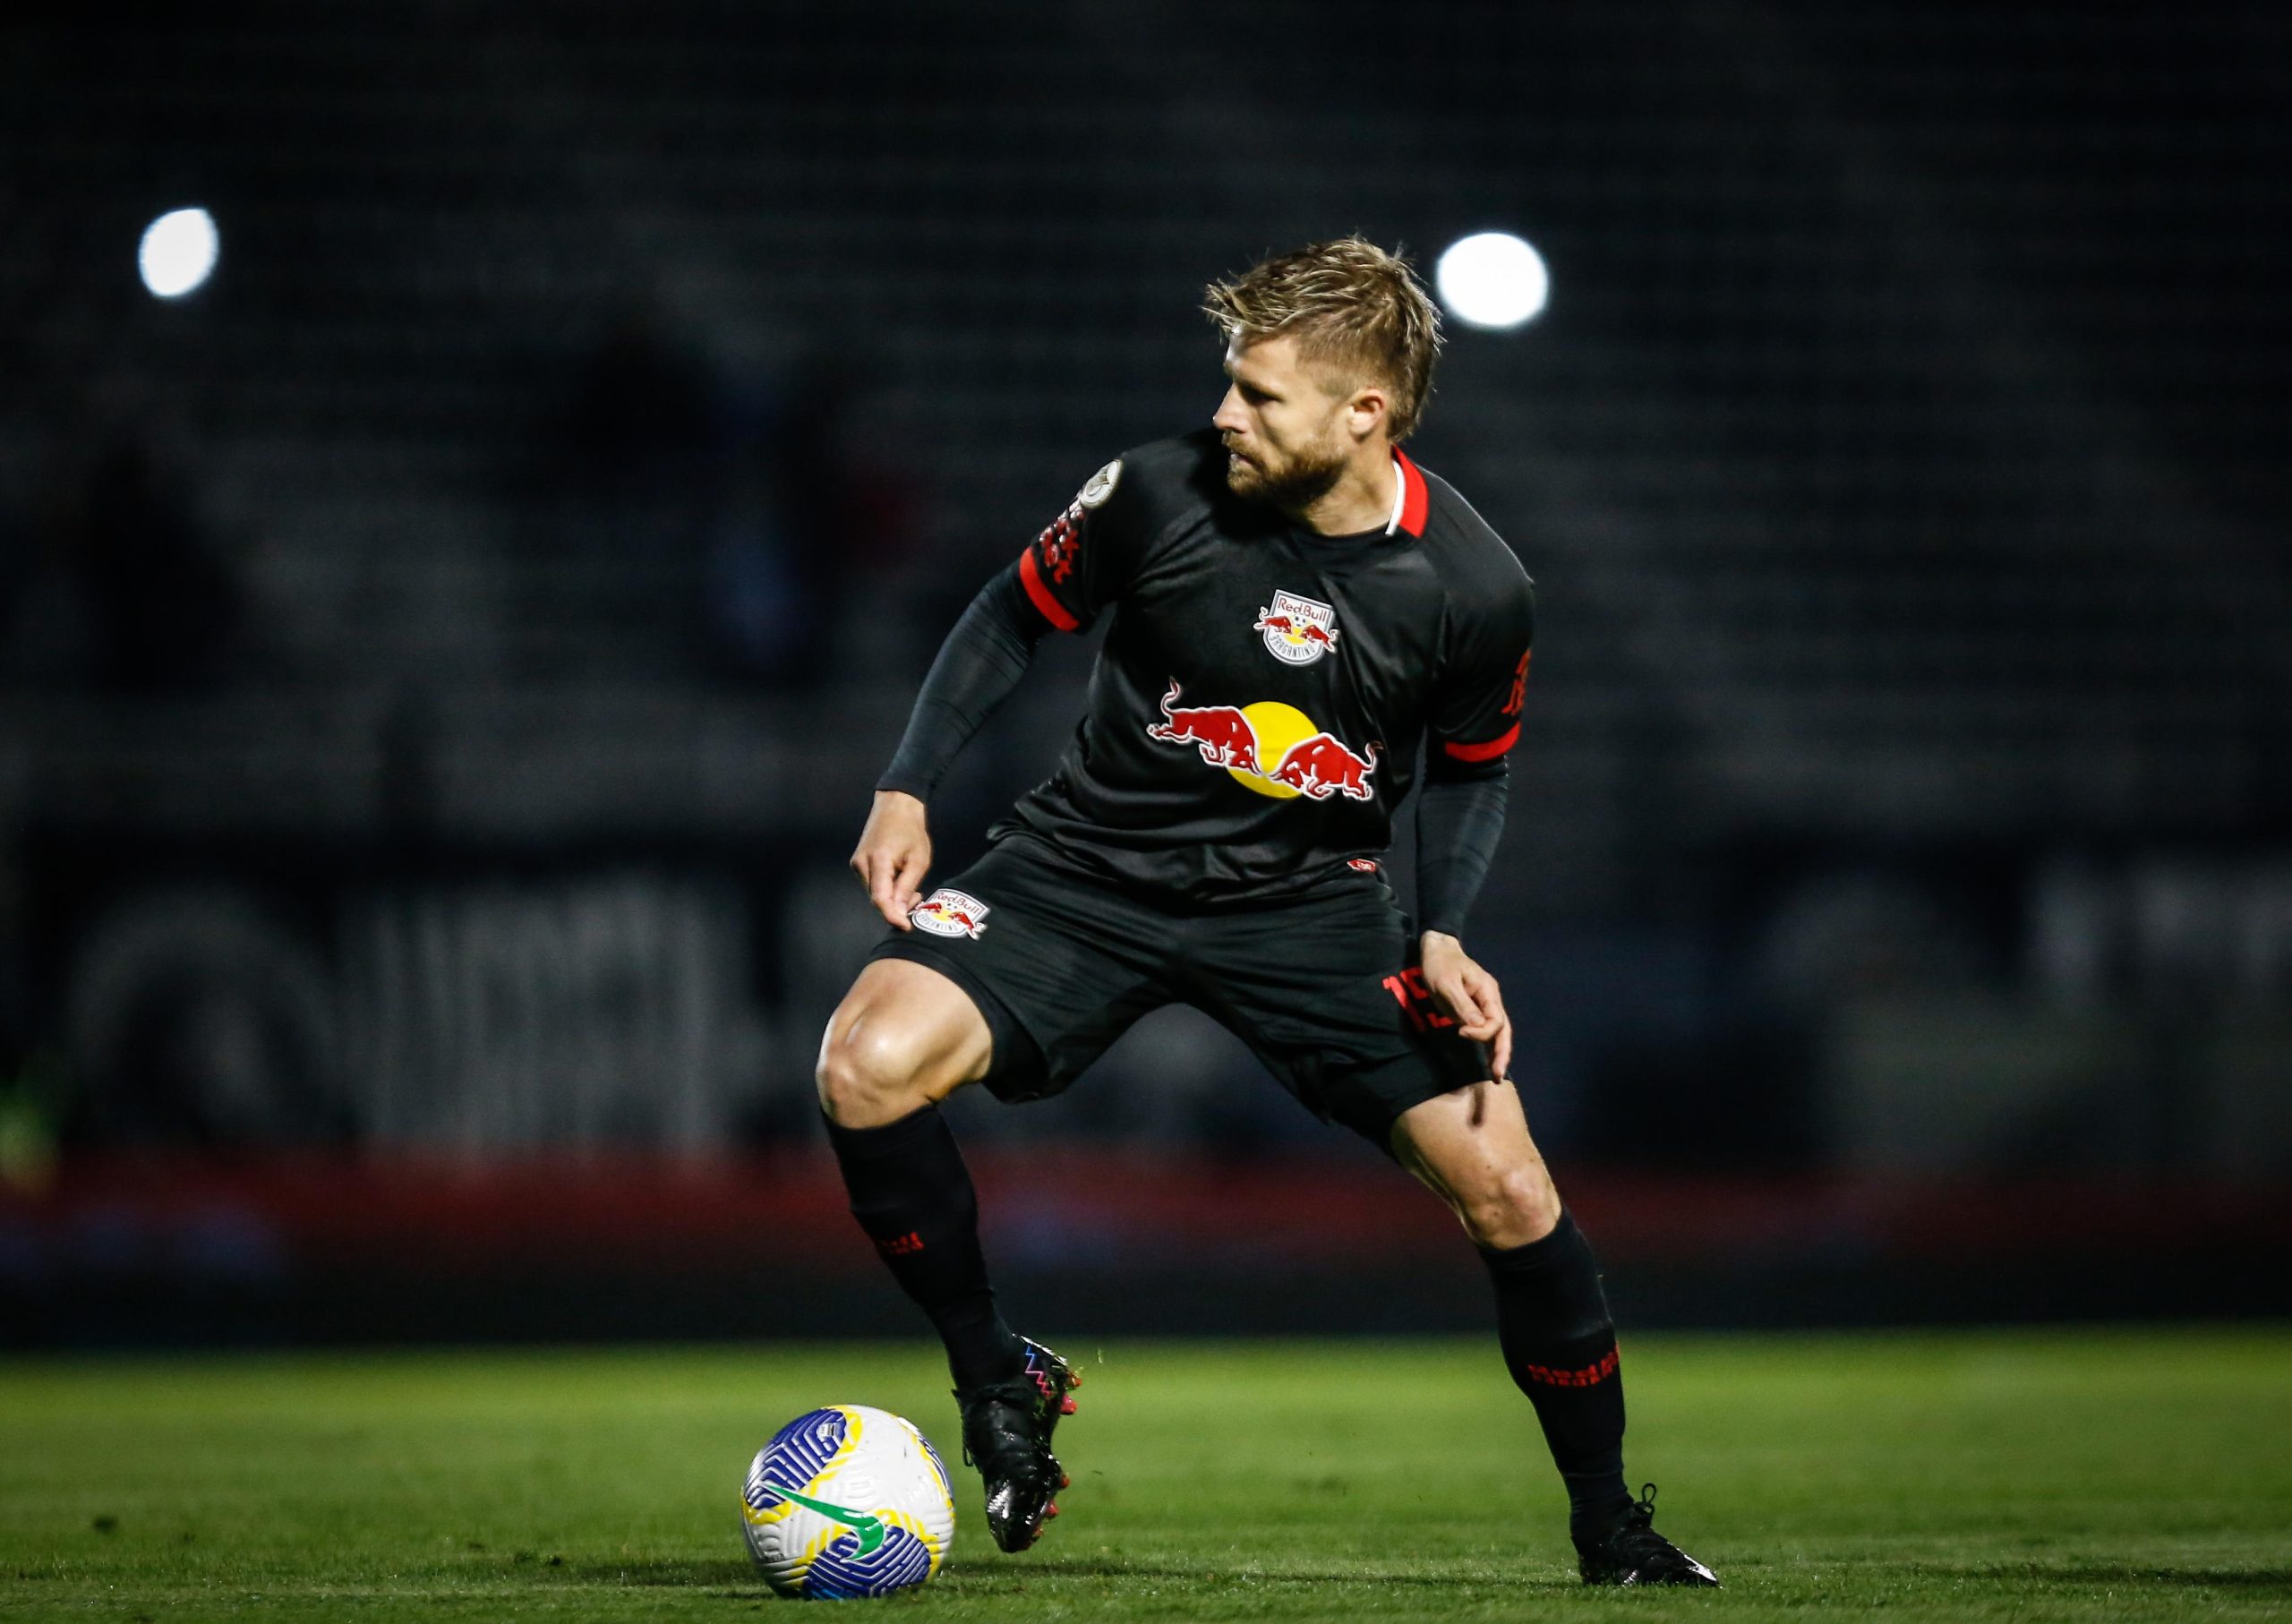
[[(809, 1102), (873, 774), (1206, 421), (1201, 284), (1352, 229), (1552, 268), (1412, 449), (1538, 577), (1469, 946), (1618, 1299), (2292, 1310), (2287, 64), (2207, 2), (11, 9), (0, 1342), (908, 1329)], [(960, 1125), (1045, 1315), (1481, 1312), (1190, 1012)]]

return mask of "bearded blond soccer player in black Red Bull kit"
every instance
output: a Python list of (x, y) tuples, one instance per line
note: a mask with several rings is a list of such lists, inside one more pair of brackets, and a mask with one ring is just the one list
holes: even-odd
[[(1570, 1500), (1586, 1583), (1717, 1585), (1623, 1477), (1623, 1377), (1591, 1246), (1510, 1083), (1513, 1024), (1462, 944), (1504, 831), (1533, 589), (1400, 444), (1439, 316), (1407, 263), (1316, 243), (1208, 289), (1210, 428), (1125, 451), (956, 623), (853, 868), (894, 925), (821, 1042), (853, 1216), (947, 1342), (988, 1528), (1022, 1551), (1066, 1484), (1080, 1377), (1004, 1324), (940, 1099), (1066, 1088), (1192, 1003), (1309, 1111), (1446, 1200)], [(1045, 632), (1112, 616), (1061, 767), (924, 893), (926, 802)], [(1419, 776), (1412, 928), (1382, 861)]]

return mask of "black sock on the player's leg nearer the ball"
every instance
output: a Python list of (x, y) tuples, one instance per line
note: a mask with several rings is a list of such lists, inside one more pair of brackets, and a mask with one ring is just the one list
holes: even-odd
[(1025, 1370), (1027, 1351), (988, 1285), (972, 1170), (940, 1109), (924, 1106), (885, 1127), (827, 1122), (827, 1143), (859, 1228), (901, 1290), (940, 1329), (956, 1386), (974, 1388)]

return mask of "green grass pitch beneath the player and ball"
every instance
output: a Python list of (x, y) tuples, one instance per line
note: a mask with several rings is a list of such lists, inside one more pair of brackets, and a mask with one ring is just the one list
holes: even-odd
[[(1632, 1480), (1724, 1592), (1586, 1592), (1492, 1342), (1109, 1342), (1075, 1487), (947, 1619), (2292, 1617), (2292, 1333), (1632, 1338)], [(821, 1402), (958, 1461), (935, 1349), (0, 1363), (0, 1617), (724, 1619)]]

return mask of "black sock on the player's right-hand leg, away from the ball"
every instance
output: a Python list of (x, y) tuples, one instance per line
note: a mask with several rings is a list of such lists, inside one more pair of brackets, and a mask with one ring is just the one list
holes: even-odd
[(1497, 1285), (1497, 1340), (1536, 1406), (1568, 1484), (1568, 1528), (1600, 1532), (1632, 1505), (1623, 1487), (1623, 1370), (1600, 1264), (1575, 1216), (1510, 1251), (1481, 1251)]

